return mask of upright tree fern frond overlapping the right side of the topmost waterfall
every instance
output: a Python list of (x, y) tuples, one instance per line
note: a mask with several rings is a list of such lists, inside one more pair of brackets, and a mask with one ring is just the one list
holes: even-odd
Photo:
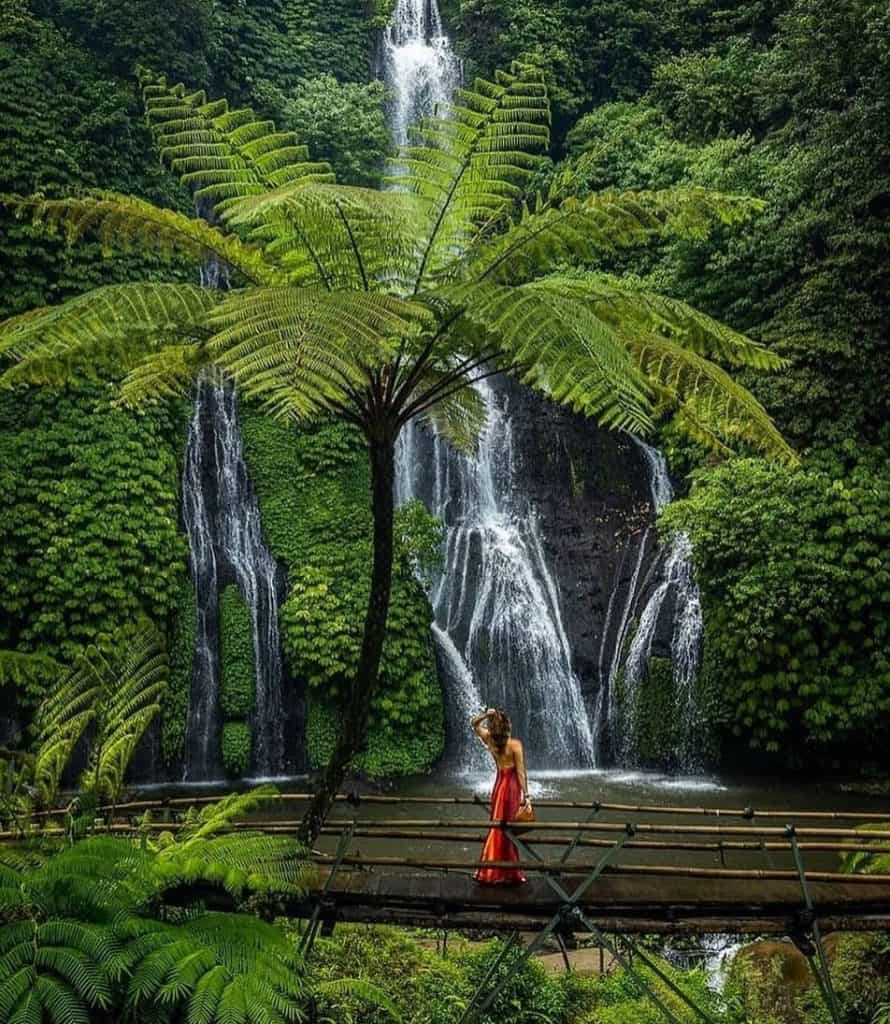
[(442, 116), (427, 118), (402, 147), (388, 183), (426, 208), (415, 291), (465, 254), (479, 229), (501, 221), (524, 195), (550, 137), (540, 71), (514, 66), (494, 82), (459, 89)]

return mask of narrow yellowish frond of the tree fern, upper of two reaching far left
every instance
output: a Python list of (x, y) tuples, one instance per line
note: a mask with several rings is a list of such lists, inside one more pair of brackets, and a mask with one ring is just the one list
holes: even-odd
[(69, 245), (87, 236), (113, 252), (151, 252), (162, 259), (184, 256), (196, 263), (215, 257), (253, 285), (282, 282), (280, 270), (261, 250), (199, 217), (186, 217), (134, 196), (94, 193), (70, 199), (0, 196), (0, 206), (17, 216), (31, 215), (32, 225), (49, 234), (65, 234)]

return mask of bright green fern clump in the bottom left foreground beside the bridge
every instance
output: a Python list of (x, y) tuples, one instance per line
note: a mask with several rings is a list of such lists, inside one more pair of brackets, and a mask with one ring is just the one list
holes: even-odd
[(293, 839), (220, 835), (271, 795), (211, 805), (160, 849), (94, 836), (49, 857), (0, 850), (0, 1019), (303, 1019), (305, 973), (287, 933), (195, 898), (197, 882), (202, 895), (207, 885), (241, 896), (300, 891)]

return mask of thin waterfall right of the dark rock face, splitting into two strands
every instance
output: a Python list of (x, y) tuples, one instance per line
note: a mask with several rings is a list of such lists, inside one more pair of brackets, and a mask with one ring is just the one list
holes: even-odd
[[(637, 444), (648, 467), (652, 505), (658, 513), (674, 498), (667, 463), (665, 457), (655, 449), (642, 441), (637, 441)], [(702, 601), (692, 566), (692, 546), (685, 534), (678, 534), (671, 540), (664, 556), (660, 581), (640, 613), (636, 632), (624, 659), (621, 709), (617, 707), (616, 687), (613, 685), (609, 687), (609, 719), (616, 720), (620, 715), (623, 722), (619, 749), (624, 760), (633, 757), (633, 723), (638, 712), (640, 684), (645, 677), (655, 631), (666, 606), (673, 608), (671, 662), (675, 713), (686, 725), (684, 731), (687, 737), (686, 750), (678, 753), (684, 766), (688, 766), (694, 754), (692, 751), (694, 727), (698, 719), (694, 682), (702, 649), (703, 620)], [(620, 664), (621, 654), (622, 650), (617, 648), (609, 676), (610, 684), (618, 678), (617, 666)]]

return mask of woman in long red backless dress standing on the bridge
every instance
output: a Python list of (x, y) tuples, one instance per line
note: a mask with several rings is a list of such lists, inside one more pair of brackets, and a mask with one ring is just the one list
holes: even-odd
[[(510, 719), (499, 709), (489, 708), (472, 721), (473, 732), (488, 746), (498, 766), (492, 791), (492, 821), (512, 821), (528, 800), (528, 777), (522, 744), (510, 735)], [(519, 860), (519, 851), (503, 828), (490, 828), (482, 847), (482, 861)], [(473, 876), (486, 885), (516, 885), (525, 881), (518, 867), (480, 867)]]

